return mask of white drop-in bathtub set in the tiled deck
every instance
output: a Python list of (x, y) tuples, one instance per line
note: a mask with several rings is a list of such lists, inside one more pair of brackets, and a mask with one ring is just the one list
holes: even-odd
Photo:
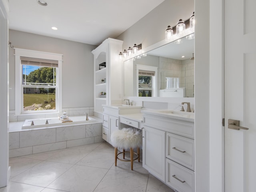
[[(70, 120), (72, 120), (72, 122), (62, 122), (59, 118), (27, 119), (22, 125), (22, 129), (82, 124), (82, 123), (90, 123), (90, 122), (96, 121), (92, 117), (88, 117), (89, 120), (86, 120), (86, 116), (72, 116), (69, 118)], [(46, 122), (48, 122), (48, 124)]]

